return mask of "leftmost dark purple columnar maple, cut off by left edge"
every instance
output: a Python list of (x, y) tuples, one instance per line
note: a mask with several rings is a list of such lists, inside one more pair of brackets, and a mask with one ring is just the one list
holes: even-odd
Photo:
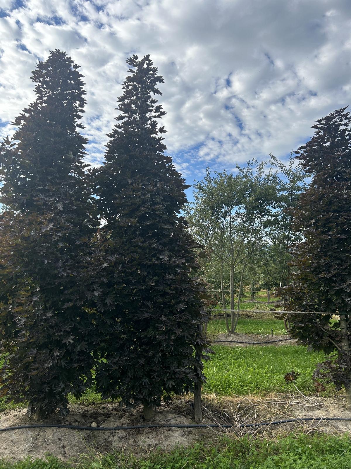
[(94, 314), (81, 279), (95, 227), (78, 68), (59, 50), (38, 63), (36, 100), (0, 151), (0, 389), (36, 418), (64, 414), (67, 394), (92, 383)]

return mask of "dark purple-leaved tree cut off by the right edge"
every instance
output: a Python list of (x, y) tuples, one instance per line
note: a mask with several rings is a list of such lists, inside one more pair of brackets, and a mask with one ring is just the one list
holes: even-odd
[(344, 385), (351, 409), (351, 117), (345, 110), (317, 120), (314, 136), (296, 152), (313, 178), (294, 213), (294, 230), (304, 241), (296, 248), (287, 293), (289, 309), (327, 313), (293, 315), (291, 332), (333, 355), (316, 377), (338, 389)]

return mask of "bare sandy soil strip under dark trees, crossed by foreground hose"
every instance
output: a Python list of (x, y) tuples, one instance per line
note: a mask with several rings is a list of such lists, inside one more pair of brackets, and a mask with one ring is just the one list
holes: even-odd
[[(73, 425), (99, 426), (144, 424), (141, 407), (121, 410), (117, 404), (80, 405), (70, 407), (66, 421), (52, 417), (45, 423), (66, 423)], [(344, 432), (351, 431), (351, 422), (308, 422), (290, 423), (265, 427), (242, 428), (241, 424), (282, 420), (289, 417), (349, 417), (345, 410), (345, 396), (334, 398), (306, 397), (298, 393), (275, 394), (267, 398), (237, 397), (219, 398), (204, 396), (203, 423), (230, 424), (233, 428), (228, 435), (234, 438), (246, 433), (265, 434), (271, 438), (277, 434), (298, 431)], [(194, 424), (190, 398), (176, 398), (172, 403), (163, 404), (156, 411), (153, 423)], [(0, 413), (0, 428), (22, 424), (33, 424), (26, 415), (26, 409), (9, 410)], [(44, 422), (43, 422), (44, 423)], [(44, 458), (53, 454), (64, 461), (75, 461), (82, 454), (113, 451), (132, 452), (143, 455), (156, 447), (168, 451), (177, 445), (189, 446), (205, 440), (215, 440), (225, 430), (220, 429), (139, 429), (125, 431), (77, 431), (59, 428), (22, 429), (0, 432), (0, 459), (17, 461), (29, 456)]]

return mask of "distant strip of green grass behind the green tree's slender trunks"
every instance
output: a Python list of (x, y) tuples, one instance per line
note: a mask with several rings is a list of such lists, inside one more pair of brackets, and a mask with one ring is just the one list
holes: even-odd
[[(273, 329), (273, 334), (275, 335), (284, 334), (284, 321), (280, 319), (239, 318), (235, 332), (240, 334), (271, 334), (271, 329)], [(207, 332), (211, 335), (226, 333), (225, 320), (212, 319), (207, 325)]]

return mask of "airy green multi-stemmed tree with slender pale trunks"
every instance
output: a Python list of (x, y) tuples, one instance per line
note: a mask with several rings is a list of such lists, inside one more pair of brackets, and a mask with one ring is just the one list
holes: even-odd
[(240, 280), (242, 287), (245, 259), (259, 249), (264, 223), (277, 203), (277, 176), (271, 169), (265, 172), (265, 166), (265, 162), (253, 159), (245, 167), (237, 165), (237, 174), (223, 171), (211, 176), (207, 169), (204, 180), (195, 184), (194, 202), (186, 211), (192, 233), (219, 260), (223, 300), (222, 272), (224, 265), (229, 268), (230, 325), (226, 313), (225, 318), (227, 332), (231, 334), (237, 324), (235, 309), (240, 306), (240, 298), (235, 304), (235, 290)]

